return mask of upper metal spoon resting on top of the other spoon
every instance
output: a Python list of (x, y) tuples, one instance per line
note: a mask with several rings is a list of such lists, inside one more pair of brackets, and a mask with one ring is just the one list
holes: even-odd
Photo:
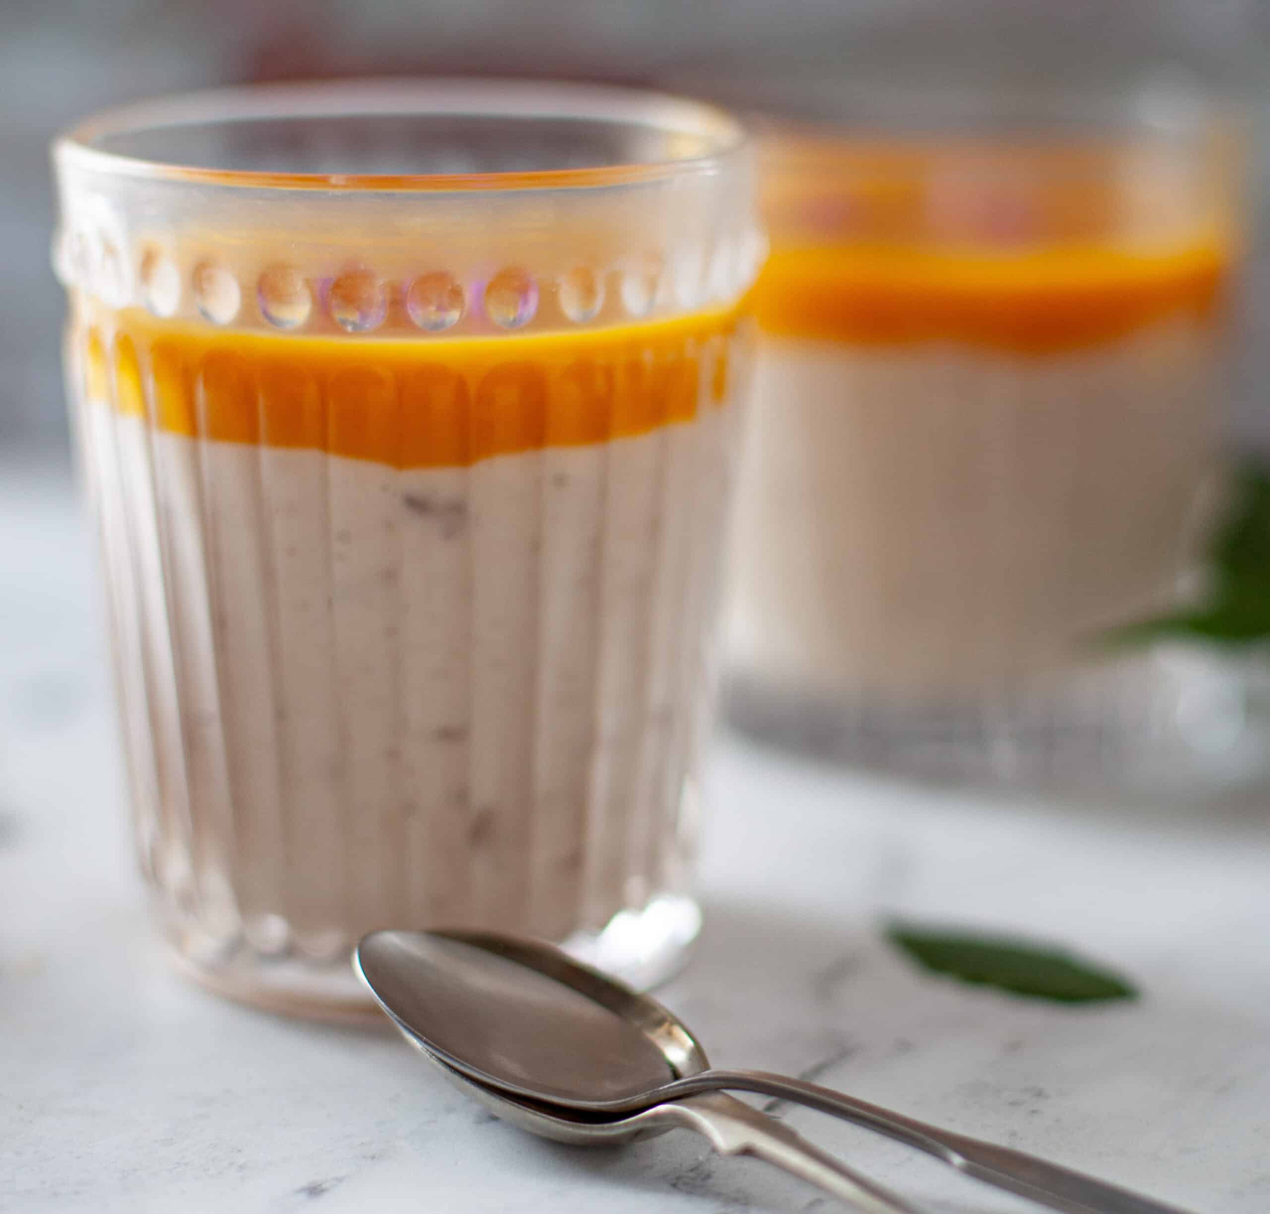
[(616, 1119), (702, 1092), (758, 1092), (876, 1130), (1066, 1214), (1184, 1214), (814, 1083), (711, 1070), (688, 1028), (659, 1003), (538, 941), (373, 932), (358, 945), (354, 966), (398, 1027), (429, 1054), (503, 1098), (554, 1106), (547, 1111), (556, 1117), (572, 1121), (577, 1111)]

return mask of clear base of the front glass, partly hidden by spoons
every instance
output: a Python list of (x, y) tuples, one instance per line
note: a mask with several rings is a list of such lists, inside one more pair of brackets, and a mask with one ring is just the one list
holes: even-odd
[[(575, 932), (566, 952), (645, 990), (682, 969), (701, 932), (701, 909), (682, 895), (662, 895), (640, 910), (622, 910), (599, 932)], [(296, 957), (240, 951), (202, 961), (173, 942), (178, 969), (218, 995), (251, 1007), (340, 1023), (377, 1023), (382, 1012), (347, 958), (316, 965)]]

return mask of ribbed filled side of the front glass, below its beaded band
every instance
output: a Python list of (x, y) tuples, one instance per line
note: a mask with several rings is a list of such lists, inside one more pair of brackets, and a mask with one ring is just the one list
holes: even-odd
[(212, 981), (682, 900), (744, 337), (671, 346), (331, 369), (72, 320), (141, 862)]

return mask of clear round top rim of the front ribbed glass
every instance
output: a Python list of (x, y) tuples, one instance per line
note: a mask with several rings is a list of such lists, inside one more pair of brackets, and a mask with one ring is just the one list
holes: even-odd
[[(271, 118), (376, 116), (598, 119), (615, 127), (693, 135), (705, 141), (707, 150), (697, 155), (582, 168), (330, 173), (213, 168), (147, 159), (97, 146), (108, 136), (144, 128)], [(672, 93), (573, 81), (418, 76), (231, 85), (110, 107), (58, 133), (52, 154), (58, 168), (231, 189), (464, 193), (602, 188), (719, 174), (743, 155), (748, 145), (748, 127), (726, 109)]]

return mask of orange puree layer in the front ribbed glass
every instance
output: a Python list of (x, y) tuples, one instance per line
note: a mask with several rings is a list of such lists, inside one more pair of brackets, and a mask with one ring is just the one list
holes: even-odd
[(737, 309), (575, 333), (340, 338), (83, 319), (85, 392), (189, 437), (398, 468), (472, 464), (691, 422), (728, 398)]

